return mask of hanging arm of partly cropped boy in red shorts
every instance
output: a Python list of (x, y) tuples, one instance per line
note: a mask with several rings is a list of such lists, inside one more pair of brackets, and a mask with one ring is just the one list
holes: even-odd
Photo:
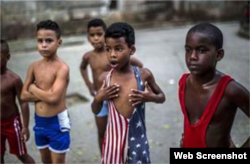
[(24, 137), (25, 141), (29, 140), (29, 120), (30, 120), (30, 110), (29, 110), (29, 104), (27, 102), (24, 102), (21, 100), (21, 91), (22, 91), (23, 83), (21, 79), (18, 77), (15, 80), (15, 90), (18, 102), (20, 104), (21, 108), (21, 115), (22, 115), (22, 135)]

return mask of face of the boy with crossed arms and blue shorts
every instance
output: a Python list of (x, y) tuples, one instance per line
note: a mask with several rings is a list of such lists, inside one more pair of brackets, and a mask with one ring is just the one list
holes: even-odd
[(40, 29), (37, 31), (37, 49), (43, 57), (55, 55), (61, 42), (53, 30)]

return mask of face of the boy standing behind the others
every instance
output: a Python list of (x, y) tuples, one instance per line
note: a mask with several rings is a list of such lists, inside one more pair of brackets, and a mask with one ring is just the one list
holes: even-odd
[(104, 47), (104, 29), (99, 27), (90, 27), (88, 30), (88, 40), (94, 49), (102, 49)]

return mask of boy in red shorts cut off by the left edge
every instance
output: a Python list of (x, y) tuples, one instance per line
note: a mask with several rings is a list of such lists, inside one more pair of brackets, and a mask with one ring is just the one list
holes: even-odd
[[(0, 164), (4, 163), (6, 139), (11, 154), (16, 155), (22, 163), (34, 164), (25, 145), (29, 139), (29, 106), (20, 99), (23, 83), (18, 75), (7, 68), (9, 59), (8, 43), (0, 39)], [(20, 104), (22, 122), (16, 98)]]

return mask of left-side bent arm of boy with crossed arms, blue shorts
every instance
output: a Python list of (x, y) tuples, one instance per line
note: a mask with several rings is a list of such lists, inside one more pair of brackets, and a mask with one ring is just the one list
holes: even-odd
[(30, 65), (28, 72), (27, 72), (27, 77), (25, 80), (25, 83), (22, 88), (21, 92), (21, 100), (22, 101), (31, 101), (31, 102), (36, 102), (39, 101), (39, 99), (33, 95), (32, 93), (29, 92), (29, 86), (30, 84), (34, 83), (34, 74), (33, 74), (34, 68), (33, 64)]

